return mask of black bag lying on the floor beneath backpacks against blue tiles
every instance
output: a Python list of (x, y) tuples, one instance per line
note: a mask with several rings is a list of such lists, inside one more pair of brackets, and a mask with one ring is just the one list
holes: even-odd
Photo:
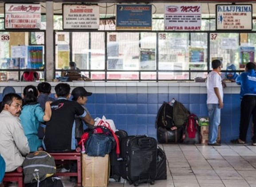
[(158, 142), (160, 144), (181, 143), (182, 142), (183, 127), (179, 126), (177, 129), (165, 129), (158, 127)]

